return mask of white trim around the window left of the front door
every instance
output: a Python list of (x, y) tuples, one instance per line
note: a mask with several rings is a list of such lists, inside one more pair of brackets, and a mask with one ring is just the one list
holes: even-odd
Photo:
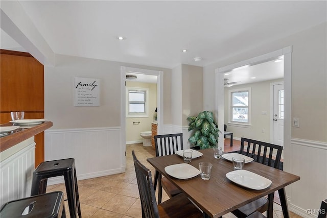
[[(242, 122), (235, 122), (231, 120), (231, 93), (232, 92), (240, 92), (240, 91), (248, 91), (249, 92), (249, 105), (248, 105), (248, 123), (242, 123)], [(245, 127), (245, 128), (251, 128), (251, 87), (245, 87), (240, 89), (230, 89), (228, 90), (228, 125), (229, 126), (236, 126), (236, 127)]]

